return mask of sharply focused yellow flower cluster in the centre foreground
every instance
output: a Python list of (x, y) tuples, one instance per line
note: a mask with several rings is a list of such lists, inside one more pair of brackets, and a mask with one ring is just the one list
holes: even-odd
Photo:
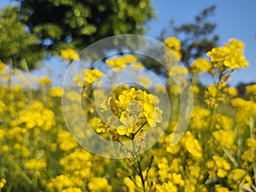
[(159, 101), (155, 96), (143, 90), (127, 88), (127, 90), (115, 89), (113, 96), (108, 98), (108, 102), (102, 103), (102, 111), (111, 110), (114, 117), (108, 118), (108, 125), (102, 123), (97, 132), (107, 130), (116, 131), (119, 135), (132, 136), (138, 131), (145, 131), (144, 125), (155, 127), (162, 121), (162, 111), (154, 108), (154, 104)]

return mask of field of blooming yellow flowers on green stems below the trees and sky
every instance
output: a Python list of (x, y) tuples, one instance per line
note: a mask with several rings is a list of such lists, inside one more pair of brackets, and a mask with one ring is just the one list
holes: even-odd
[[(180, 59), (177, 38), (167, 38), (165, 43)], [(123, 84), (111, 96), (106, 90), (96, 93), (103, 76), (97, 68), (84, 69), (73, 79), (80, 95), (54, 87), (54, 79), (48, 77), (34, 79), (37, 89), (27, 88), (22, 73), (0, 62), (0, 191), (256, 191), (256, 85), (248, 85), (245, 96), (227, 85), (234, 70), (248, 65), (243, 49), (241, 41), (230, 39), (189, 69), (172, 66), (166, 74), (171, 83), (154, 87), (158, 96), (137, 84)], [(68, 62), (79, 60), (72, 49), (63, 50), (61, 56)], [(166, 62), (173, 60), (166, 56)], [(119, 73), (128, 65), (141, 67), (143, 61), (121, 55), (105, 64)], [(184, 72), (191, 79), (194, 106), (187, 131), (170, 145), (180, 113), (176, 103), (186, 91), (177, 88), (172, 78), (182, 79)], [(214, 84), (199, 86), (202, 73), (212, 75)], [(14, 75), (18, 80), (13, 80)], [(141, 81), (150, 84), (147, 77)], [(168, 122), (158, 107), (165, 91), (172, 106)], [(90, 153), (67, 129), (62, 110), (73, 113), (69, 120), (77, 122), (80, 108), (73, 103), (89, 101), (96, 94), (100, 102), (106, 101), (99, 106), (106, 119), (96, 115), (90, 102), (82, 102), (84, 118), (97, 135), (123, 148), (122, 159)], [(63, 107), (61, 97), (71, 104)], [(145, 133), (160, 134), (166, 125), (158, 142), (143, 151), (150, 139)], [(76, 124), (74, 130), (81, 138), (89, 134), (79, 132), (83, 126)]]

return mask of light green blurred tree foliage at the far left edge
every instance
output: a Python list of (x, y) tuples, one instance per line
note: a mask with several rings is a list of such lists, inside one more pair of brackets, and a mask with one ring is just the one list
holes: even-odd
[(19, 20), (19, 8), (8, 6), (0, 10), (0, 60), (23, 70), (38, 66), (45, 56), (38, 38), (27, 32)]

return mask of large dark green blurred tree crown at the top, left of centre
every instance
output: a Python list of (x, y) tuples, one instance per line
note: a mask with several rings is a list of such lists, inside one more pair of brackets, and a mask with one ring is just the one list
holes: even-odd
[[(53, 54), (83, 49), (99, 39), (145, 32), (151, 0), (17, 0), (21, 20)], [(67, 45), (68, 44), (68, 45)]]

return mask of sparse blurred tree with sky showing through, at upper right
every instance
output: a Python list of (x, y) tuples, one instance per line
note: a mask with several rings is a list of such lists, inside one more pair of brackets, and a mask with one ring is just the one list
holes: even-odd
[[(182, 61), (187, 67), (191, 61), (206, 55), (208, 50), (218, 44), (218, 35), (214, 34), (217, 25), (210, 20), (215, 9), (215, 5), (203, 9), (198, 15), (195, 15), (195, 20), (191, 23), (175, 26), (175, 23), (171, 21), (173, 35), (182, 42)], [(161, 32), (161, 37), (164, 38), (166, 33), (167, 30)]]

